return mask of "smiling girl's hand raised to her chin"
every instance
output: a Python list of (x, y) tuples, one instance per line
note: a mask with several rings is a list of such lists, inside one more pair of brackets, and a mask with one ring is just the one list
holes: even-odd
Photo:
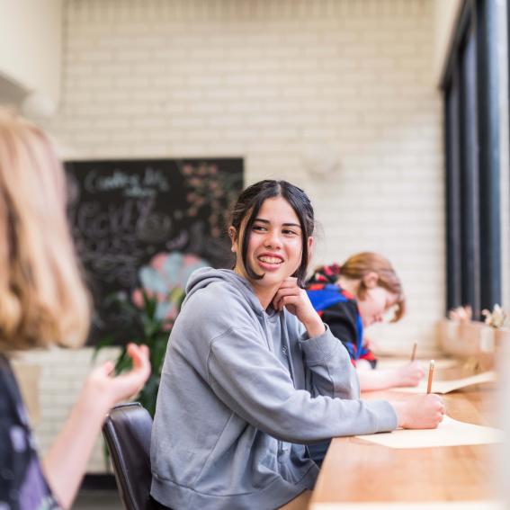
[(287, 309), (295, 315), (307, 328), (309, 336), (319, 336), (325, 331), (325, 326), (317, 311), (313, 308), (307, 291), (298, 286), (298, 279), (286, 278), (273, 298), (273, 309)]

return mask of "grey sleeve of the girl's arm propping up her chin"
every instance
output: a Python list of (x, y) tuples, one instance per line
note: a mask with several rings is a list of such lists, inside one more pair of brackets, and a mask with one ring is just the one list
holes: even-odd
[(351, 357), (344, 344), (325, 326), (326, 332), (321, 336), (309, 338), (305, 332), (300, 337), (305, 368), (309, 372), (308, 389), (314, 397), (360, 398), (360, 383)]

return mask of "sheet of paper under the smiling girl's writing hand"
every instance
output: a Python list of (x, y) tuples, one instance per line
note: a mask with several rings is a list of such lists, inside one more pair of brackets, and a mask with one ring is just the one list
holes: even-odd
[(502, 430), (481, 425), (471, 425), (444, 416), (437, 428), (427, 430), (398, 429), (381, 434), (356, 437), (388, 448), (434, 448), (436, 446), (461, 446), (463, 444), (502, 443)]

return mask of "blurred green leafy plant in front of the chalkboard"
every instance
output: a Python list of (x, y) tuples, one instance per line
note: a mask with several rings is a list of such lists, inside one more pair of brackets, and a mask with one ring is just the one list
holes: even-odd
[[(161, 380), (161, 371), (165, 361), (166, 345), (168, 336), (174, 326), (174, 317), (162, 317), (161, 309), (168, 309), (168, 305), (174, 305), (178, 312), (184, 300), (184, 291), (174, 288), (168, 292), (165, 299), (157, 298), (141, 290), (143, 298), (142, 306), (136, 306), (125, 294), (115, 293), (108, 297), (108, 301), (117, 307), (122, 316), (124, 329), (130, 331), (129, 342), (145, 344), (150, 353), (152, 371), (145, 386), (135, 398), (145, 407), (151, 416), (156, 412), (157, 390)], [(93, 361), (97, 354), (107, 346), (111, 346), (117, 340), (115, 335), (105, 336), (94, 347)], [(127, 353), (127, 344), (121, 347), (121, 353), (115, 361), (115, 374), (128, 371), (131, 368), (131, 359)]]

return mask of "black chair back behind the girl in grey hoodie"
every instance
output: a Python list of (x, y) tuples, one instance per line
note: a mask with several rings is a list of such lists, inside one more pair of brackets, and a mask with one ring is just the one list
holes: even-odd
[(103, 437), (126, 510), (165, 508), (150, 497), (152, 418), (139, 402), (115, 406), (106, 416)]

